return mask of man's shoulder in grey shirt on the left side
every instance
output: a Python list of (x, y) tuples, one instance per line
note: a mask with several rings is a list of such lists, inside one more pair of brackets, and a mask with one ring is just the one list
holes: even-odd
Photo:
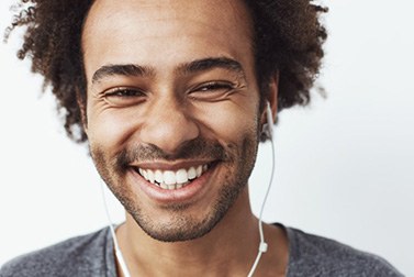
[(108, 235), (102, 229), (19, 256), (0, 268), (0, 277), (104, 276)]

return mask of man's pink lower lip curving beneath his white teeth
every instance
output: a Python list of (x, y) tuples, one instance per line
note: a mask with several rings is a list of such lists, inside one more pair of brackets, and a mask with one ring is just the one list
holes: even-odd
[(139, 189), (144, 191), (148, 198), (159, 203), (171, 203), (192, 201), (198, 197), (203, 196), (210, 189), (209, 186), (206, 186), (206, 182), (210, 179), (214, 168), (215, 166), (212, 166), (199, 178), (195, 178), (179, 189), (163, 189), (144, 179), (134, 169), (131, 169), (130, 173), (134, 179), (133, 181), (138, 185)]

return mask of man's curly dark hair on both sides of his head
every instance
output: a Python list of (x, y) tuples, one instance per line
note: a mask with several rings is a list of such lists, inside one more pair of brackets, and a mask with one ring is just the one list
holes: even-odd
[[(52, 87), (57, 108), (65, 110), (65, 130), (76, 142), (87, 141), (78, 101), (86, 101), (81, 32), (93, 0), (21, 0), (4, 38), (26, 27), (18, 57), (30, 57), (32, 71)], [(324, 56), (327, 9), (309, 0), (245, 0), (254, 22), (254, 49), (261, 96), (279, 73), (279, 111), (307, 104)], [(264, 99), (264, 97), (261, 97)], [(80, 130), (76, 132), (75, 130)]]

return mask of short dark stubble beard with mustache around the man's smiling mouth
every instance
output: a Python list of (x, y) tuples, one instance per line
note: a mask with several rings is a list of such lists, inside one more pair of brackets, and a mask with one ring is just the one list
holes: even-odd
[[(102, 179), (146, 234), (163, 242), (182, 242), (205, 235), (224, 218), (247, 186), (256, 160), (257, 147), (258, 135), (256, 132), (249, 132), (244, 135), (239, 145), (223, 146), (199, 137), (182, 145), (174, 155), (164, 153), (155, 145), (124, 148), (113, 157), (109, 157), (99, 145), (91, 146), (90, 152)], [(159, 207), (163, 212), (168, 213), (168, 222), (148, 214), (149, 212), (126, 181), (126, 173), (131, 170), (130, 164), (192, 158), (217, 160), (212, 170), (221, 167), (225, 171), (206, 214), (202, 219), (191, 215), (188, 211), (191, 210), (192, 203), (170, 203)]]

